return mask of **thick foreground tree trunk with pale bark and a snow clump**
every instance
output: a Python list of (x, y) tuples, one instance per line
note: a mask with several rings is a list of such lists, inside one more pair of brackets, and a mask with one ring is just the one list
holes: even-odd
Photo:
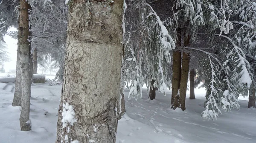
[(69, 2), (56, 143), (115, 143), (123, 0)]

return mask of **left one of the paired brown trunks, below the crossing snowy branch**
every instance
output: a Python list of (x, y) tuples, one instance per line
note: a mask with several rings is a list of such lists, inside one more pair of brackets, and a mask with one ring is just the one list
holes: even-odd
[(180, 67), (181, 67), (181, 53), (180, 51), (173, 52), (173, 72), (172, 72), (172, 101), (171, 108), (178, 107), (178, 90), (180, 89)]

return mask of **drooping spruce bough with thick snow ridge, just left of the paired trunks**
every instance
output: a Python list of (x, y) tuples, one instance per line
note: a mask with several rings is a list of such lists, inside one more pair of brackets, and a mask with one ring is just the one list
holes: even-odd
[[(167, 90), (167, 63), (171, 62), (169, 51), (175, 48), (175, 43), (154, 9), (148, 4), (146, 6), (150, 8), (145, 19), (145, 24), (149, 25), (147, 31), (150, 35), (149, 38), (145, 37), (144, 41), (145, 45), (148, 45), (145, 52), (149, 67), (147, 68), (147, 82), (157, 81), (151, 86), (158, 87), (159, 92), (165, 94)], [(152, 18), (155, 20), (152, 21)]]

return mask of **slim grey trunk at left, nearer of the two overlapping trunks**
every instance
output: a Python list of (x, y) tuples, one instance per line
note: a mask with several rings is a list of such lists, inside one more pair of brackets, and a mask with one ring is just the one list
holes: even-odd
[[(29, 119), (30, 110), (30, 67), (29, 67), (29, 4), (26, 0), (20, 0), (20, 17), (19, 17), (19, 32), (18, 32), (18, 45), (19, 50), (17, 56), (17, 70), (20, 71), (20, 84), (16, 87), (21, 89), (21, 104), (20, 104), (20, 129), (22, 131), (31, 130), (31, 122)], [(19, 87), (20, 86), (20, 87)]]

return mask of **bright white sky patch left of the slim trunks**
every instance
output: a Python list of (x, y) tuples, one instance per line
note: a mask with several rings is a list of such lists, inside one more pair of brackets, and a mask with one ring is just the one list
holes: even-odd
[(16, 69), (16, 59), (17, 59), (17, 39), (13, 39), (11, 36), (5, 35), (3, 37), (4, 41), (7, 44), (9, 57), (11, 58), (10, 62), (4, 63), (4, 68), (6, 70), (6, 73), (9, 70), (15, 70)]

